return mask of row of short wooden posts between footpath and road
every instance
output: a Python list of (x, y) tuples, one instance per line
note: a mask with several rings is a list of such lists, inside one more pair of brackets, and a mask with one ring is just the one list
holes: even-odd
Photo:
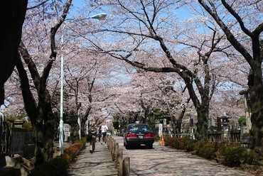
[(106, 136), (107, 147), (112, 155), (114, 161), (114, 169), (117, 169), (118, 176), (130, 175), (130, 160), (129, 157), (123, 159), (122, 148), (119, 148), (119, 143), (116, 143), (112, 136)]

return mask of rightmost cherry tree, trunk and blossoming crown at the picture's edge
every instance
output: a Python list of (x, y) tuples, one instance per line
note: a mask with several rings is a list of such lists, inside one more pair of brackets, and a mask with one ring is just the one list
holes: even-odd
[(198, 3), (218, 23), (227, 40), (249, 64), (247, 92), (251, 109), (252, 135), (251, 148), (263, 153), (262, 117), (262, 1), (203, 1)]

